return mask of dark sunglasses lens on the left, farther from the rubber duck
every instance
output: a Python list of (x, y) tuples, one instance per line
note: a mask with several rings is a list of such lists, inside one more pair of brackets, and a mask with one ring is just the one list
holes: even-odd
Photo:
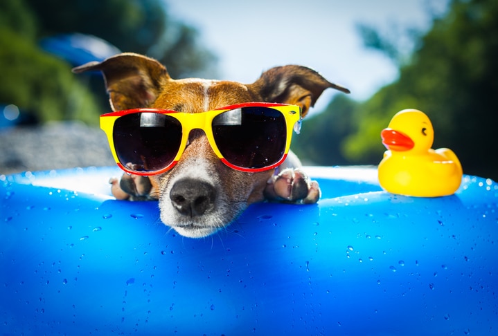
[(181, 124), (169, 115), (132, 113), (114, 122), (113, 138), (122, 165), (134, 171), (157, 171), (175, 159)]

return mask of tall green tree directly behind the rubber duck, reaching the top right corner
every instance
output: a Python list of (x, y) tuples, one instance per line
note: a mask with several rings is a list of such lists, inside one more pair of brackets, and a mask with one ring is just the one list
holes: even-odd
[(400, 69), (399, 80), (363, 106), (358, 131), (344, 143), (348, 158), (380, 157), (383, 148), (373, 138), (360, 138), (400, 109), (416, 108), (434, 124), (434, 147), (452, 148), (467, 174), (498, 178), (497, 15), (497, 1), (452, 1)]

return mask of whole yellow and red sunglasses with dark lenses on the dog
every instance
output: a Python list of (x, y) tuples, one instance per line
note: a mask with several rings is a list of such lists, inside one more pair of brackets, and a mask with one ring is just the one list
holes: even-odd
[(301, 109), (250, 102), (202, 113), (131, 109), (100, 115), (112, 156), (130, 174), (150, 176), (174, 167), (193, 129), (202, 129), (222, 162), (233, 169), (273, 169), (287, 157), (292, 130), (301, 129)]

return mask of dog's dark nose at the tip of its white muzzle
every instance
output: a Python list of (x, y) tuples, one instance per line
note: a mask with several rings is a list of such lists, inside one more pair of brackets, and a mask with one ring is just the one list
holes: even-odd
[(180, 214), (201, 216), (213, 209), (216, 191), (213, 185), (193, 178), (175, 182), (170, 191), (171, 203)]

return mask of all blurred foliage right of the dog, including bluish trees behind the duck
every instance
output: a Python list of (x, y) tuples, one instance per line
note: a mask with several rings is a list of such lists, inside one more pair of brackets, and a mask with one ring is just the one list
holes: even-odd
[[(434, 17), (432, 29), (416, 42), (398, 80), (366, 102), (344, 104), (337, 96), (324, 113), (305, 120), (303, 128), (312, 135), (296, 137), (294, 151), (321, 165), (376, 165), (385, 150), (380, 131), (395, 113), (413, 108), (432, 120), (434, 148), (453, 149), (465, 174), (498, 180), (497, 17), (498, 1), (450, 1), (446, 14)], [(389, 46), (386, 55), (398, 55), (392, 43), (373, 36), (366, 46)]]

